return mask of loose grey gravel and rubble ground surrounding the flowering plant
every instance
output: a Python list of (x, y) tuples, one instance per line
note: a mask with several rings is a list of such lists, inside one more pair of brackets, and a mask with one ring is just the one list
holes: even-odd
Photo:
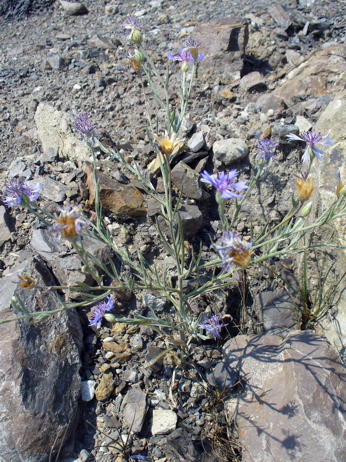
[[(43, 3), (37, 2), (37, 6)], [(30, 4), (35, 10), (35, 2)], [(256, 168), (255, 135), (271, 132), (280, 142), (277, 162), (253, 191), (236, 229), (250, 241), (250, 222), (255, 233), (266, 221), (279, 222), (290, 206), (294, 175), (300, 166), (297, 145), (289, 144), (286, 135), (311, 128), (335, 94), (345, 88), (346, 3), (152, 0), (130, 4), (90, 0), (85, 5), (86, 11), (69, 15), (57, 1), (41, 12), (18, 17), (26, 12), (24, 6), (16, 9), (11, 3), (6, 7), (0, 3), (4, 16), (0, 19), (0, 190), (11, 178), (40, 178), (45, 186), (41, 205), (51, 212), (66, 199), (89, 207), (92, 175), (86, 161), (90, 154), (76, 137), (71, 141), (72, 135), (62, 125), (56, 141), (59, 148), (52, 149), (47, 142), (56, 122), (52, 122), (55, 109), (71, 117), (74, 111), (87, 112), (105, 144), (122, 149), (128, 160), (135, 159), (144, 168), (155, 158), (146, 135), (140, 82), (124, 58), (130, 47), (121, 24), (128, 14), (135, 14), (144, 27), (144, 46), (158, 69), (163, 74), (167, 67), (171, 71), (172, 104), (179, 93), (179, 66), (167, 60), (167, 52), (175, 53), (189, 34), (203, 42), (201, 51), (206, 58), (199, 65), (182, 127), (188, 149), (177, 160), (184, 160), (197, 173), (205, 168), (237, 168), (241, 178), (249, 179)], [(42, 103), (46, 105), (40, 106)], [(151, 97), (149, 104), (159, 115), (161, 132), (160, 109)], [(67, 126), (68, 119), (64, 120)], [(239, 149), (230, 156), (232, 146)], [(120, 184), (120, 195), (127, 195), (126, 186), (133, 176), (106, 154), (99, 153), (98, 161), (100, 172)], [(173, 174), (177, 188), (180, 167), (177, 163)], [(221, 234), (213, 193), (208, 188), (203, 192), (200, 184), (184, 193), (186, 236), (196, 249), (202, 242), (203, 257), (208, 259), (215, 252), (211, 239), (216, 242)], [(153, 225), (156, 206), (145, 197), (138, 201), (125, 212), (115, 199), (110, 201), (108, 208), (104, 206), (105, 223), (118, 243), (127, 243), (133, 254), (140, 248), (146, 255), (164, 260)], [(13, 268), (22, 264), (20, 256), (25, 251), (39, 255), (60, 283), (74, 280), (79, 262), (65, 244), (55, 243), (24, 209), (18, 213), (18, 209), (5, 211), (0, 206), (0, 212), (3, 281), (13, 280)], [(102, 256), (107, 249), (97, 247), (94, 252)], [(295, 261), (286, 258), (268, 264), (299, 287)], [(275, 300), (281, 306), (292, 303), (290, 299), (283, 302), (286, 292), (277, 287), (271, 271), (259, 273), (252, 268), (248, 283), (255, 303), (248, 303), (252, 322), (244, 332), (272, 332), (272, 314), (261, 318), (259, 307), (275, 305)], [(127, 295), (118, 300), (121, 314), (129, 315), (131, 309), (145, 312), (148, 307), (158, 313), (167, 309), (151, 294)], [(144, 368), (166, 348), (164, 338), (143, 326), (116, 324), (92, 329), (87, 313), (80, 310), (82, 399), (79, 421), (71, 423), (73, 432), (60, 460), (121, 461), (117, 445), (127, 438), (131, 454), (148, 455), (148, 460), (241, 460), (237, 432), (225, 412), (227, 396), (216, 397), (199, 383), (202, 376), (213, 381), (213, 366), (218, 385), (225, 383), (233, 387), (232, 393), (239, 391), (239, 386), (234, 387), (237, 375), (224, 367), (221, 347), (229, 333), (239, 332), (240, 301), (238, 289), (232, 289), (206, 298), (196, 308), (196, 312), (213, 309), (234, 319), (222, 341), (211, 340), (204, 349), (195, 346), (191, 351), (191, 359), (200, 365), (198, 376), (176, 368), (174, 355)], [(292, 313), (281, 322), (286, 328), (301, 327)], [(0, 451), (0, 460), (1, 456)], [(244, 461), (246, 457), (243, 454)], [(39, 460), (48, 459), (30, 459)], [(284, 459), (276, 453), (278, 460)]]

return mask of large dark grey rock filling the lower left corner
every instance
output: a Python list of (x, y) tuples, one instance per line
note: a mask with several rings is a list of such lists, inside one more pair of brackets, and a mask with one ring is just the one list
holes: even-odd
[[(60, 308), (52, 291), (21, 289), (13, 281), (30, 274), (37, 285), (54, 285), (43, 260), (25, 252), (0, 281), (0, 319), (20, 315), (11, 298), (30, 312)], [(82, 329), (74, 310), (0, 324), (0, 454), (9, 461), (47, 462), (74, 421), (81, 390)], [(64, 440), (70, 435), (67, 431)]]

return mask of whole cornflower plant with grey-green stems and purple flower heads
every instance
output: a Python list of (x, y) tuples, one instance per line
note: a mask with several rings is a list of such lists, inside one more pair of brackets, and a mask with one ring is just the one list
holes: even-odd
[[(199, 54), (199, 47), (202, 44), (195, 38), (188, 37), (178, 54), (173, 55), (172, 52), (168, 52), (168, 63), (172, 62), (173, 66), (175, 61), (181, 63), (180, 102), (172, 107), (168, 96), (169, 73), (167, 72), (162, 77), (149, 53), (144, 49), (142, 43), (144, 27), (139, 25), (137, 18), (128, 16), (122, 29), (129, 42), (138, 48), (134, 51), (129, 50), (127, 59), (141, 82), (148, 118), (148, 136), (151, 137), (156, 152), (156, 163), (163, 179), (164, 194), (159, 194), (156, 191), (146, 172), (135, 161), (129, 162), (120, 152), (103, 146), (98, 139), (96, 126), (88, 119), (87, 114), (78, 113), (74, 119), (74, 128), (83, 137), (82, 142), (90, 148), (93, 158), (96, 221), (88, 220), (79, 205), (67, 204), (65, 207), (59, 208), (59, 214), (56, 215), (44, 212), (37, 205), (40, 185), (31, 189), (27, 184), (10, 183), (6, 189), (5, 202), (10, 206), (26, 206), (44, 224), (49, 226), (56, 236), (67, 239), (81, 260), (81, 271), (92, 276), (93, 286), (79, 282), (69, 287), (70, 290), (81, 292), (83, 301), (61, 302), (61, 310), (77, 306), (91, 307), (89, 323), (94, 328), (99, 328), (104, 319), (130, 325), (148, 325), (163, 335), (171, 344), (166, 352), (172, 351), (174, 348), (180, 351), (180, 358), (183, 363), (184, 355), (188, 354), (191, 342), (207, 340), (210, 338), (210, 334), (215, 340), (218, 340), (221, 337), (221, 328), (227, 326), (222, 322), (220, 313), (210, 313), (209, 319), (205, 315), (202, 319), (202, 314), (195, 315), (191, 309), (191, 303), (209, 293), (229, 287), (230, 283), (234, 281), (235, 271), (240, 270), (245, 274), (250, 266), (262, 264), (270, 258), (304, 252), (310, 245), (305, 244), (305, 238), (314, 228), (346, 215), (346, 191), (345, 188), (341, 188), (339, 196), (336, 196), (333, 204), (312, 223), (307, 223), (305, 218), (311, 210), (311, 204), (305, 203), (314, 191), (314, 184), (308, 176), (308, 172), (314, 157), (320, 160), (323, 154), (316, 147), (316, 144), (330, 146), (332, 140), (328, 135), (322, 136), (319, 132), (314, 131), (304, 132), (301, 137), (290, 135), (290, 140), (307, 143), (307, 148), (303, 154), (303, 165), (305, 166), (306, 162), (309, 162), (309, 165), (307, 172), (303, 172), (302, 176), (297, 179), (298, 198), (293, 197), (292, 206), (280, 223), (271, 226), (267, 223), (256, 235), (251, 229), (251, 242), (246, 242), (242, 236), (236, 233), (234, 226), (243, 204), (248, 200), (256, 184), (261, 181), (261, 173), (270, 167), (270, 161), (275, 160), (273, 151), (278, 146), (275, 140), (259, 140), (257, 149), (260, 161), (256, 175), (249, 180), (239, 179), (240, 173), (235, 169), (228, 172), (202, 172), (201, 181), (209, 183), (216, 190), (215, 197), (223, 234), (216, 245), (213, 245), (216, 257), (211, 261), (202, 260), (202, 244), (198, 252), (196, 254), (192, 252), (190, 259), (188, 259), (179, 211), (182, 193), (178, 197), (173, 196), (171, 162), (184, 149), (183, 140), (179, 136), (179, 128), (186, 115), (197, 66), (203, 65), (204, 54)], [(143, 82), (144, 75), (149, 88), (165, 114), (164, 134), (159, 134), (157, 129), (154, 129), (155, 124), (152, 123), (147, 97), (148, 90)], [(163, 89), (164, 98), (160, 96), (162, 93), (159, 91), (158, 85), (161, 85)], [(157, 117), (160, 117), (160, 114)], [(156, 228), (166, 255), (174, 261), (176, 272), (174, 281), (165, 270), (160, 268), (155, 259), (153, 262), (149, 262), (139, 249), (137, 249), (136, 257), (133, 257), (126, 244), (121, 247), (118, 246), (109, 229), (103, 223), (96, 169), (98, 149), (116, 158), (127, 167), (137, 178), (140, 189), (160, 204), (160, 219), (163, 220), (168, 231), (163, 229), (158, 219), (156, 220)], [(114, 255), (129, 270), (125, 271), (122, 266), (119, 269), (112, 257), (109, 257), (109, 264), (106, 265), (87, 252), (84, 249), (83, 235), (96, 238), (107, 244)], [(328, 245), (333, 246), (334, 244), (329, 242)], [(207, 275), (207, 282), (201, 278), (202, 275)], [(191, 279), (195, 281), (195, 287), (190, 291), (185, 291), (184, 281)], [(107, 281), (111, 281), (111, 283)], [(36, 286), (35, 281), (32, 281), (29, 275), (23, 275), (19, 284), (25, 289)], [(158, 297), (166, 300), (174, 308), (174, 315), (159, 316), (153, 308), (149, 308), (150, 313), (147, 316), (134, 312), (133, 317), (116, 317), (113, 294), (117, 290), (125, 288), (130, 292), (136, 290), (155, 292)], [(52, 287), (51, 289), (57, 290), (58, 288)], [(22, 310), (23, 316), (33, 316), (32, 313), (27, 314), (25, 312), (20, 301), (15, 303), (15, 307)], [(39, 319), (48, 314), (40, 313)]]

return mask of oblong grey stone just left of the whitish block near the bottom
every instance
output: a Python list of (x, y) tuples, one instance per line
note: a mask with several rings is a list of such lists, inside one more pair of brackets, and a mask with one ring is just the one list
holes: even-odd
[(140, 388), (131, 388), (124, 398), (123, 405), (124, 402), (124, 418), (129, 426), (133, 423), (132, 431), (139, 433), (147, 412), (147, 396)]

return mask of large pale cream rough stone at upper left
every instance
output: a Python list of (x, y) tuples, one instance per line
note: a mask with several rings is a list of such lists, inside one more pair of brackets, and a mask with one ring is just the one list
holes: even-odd
[(87, 145), (81, 143), (72, 131), (66, 112), (58, 111), (49, 104), (40, 104), (35, 113), (35, 123), (43, 152), (48, 148), (59, 148), (59, 155), (76, 160), (79, 165), (90, 157)]

